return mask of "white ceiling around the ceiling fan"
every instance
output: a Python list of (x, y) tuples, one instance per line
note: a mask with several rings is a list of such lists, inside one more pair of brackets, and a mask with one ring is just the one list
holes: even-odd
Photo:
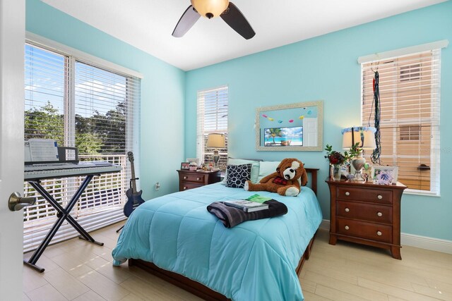
[(256, 32), (246, 40), (221, 18), (172, 31), (189, 0), (42, 0), (182, 70), (309, 39), (446, 0), (234, 0)]

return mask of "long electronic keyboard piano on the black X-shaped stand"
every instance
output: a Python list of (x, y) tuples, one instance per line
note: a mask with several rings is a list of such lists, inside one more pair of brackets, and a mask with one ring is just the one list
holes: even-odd
[(75, 163), (33, 164), (25, 166), (24, 180), (69, 178), (121, 171), (121, 166), (107, 161), (84, 161)]

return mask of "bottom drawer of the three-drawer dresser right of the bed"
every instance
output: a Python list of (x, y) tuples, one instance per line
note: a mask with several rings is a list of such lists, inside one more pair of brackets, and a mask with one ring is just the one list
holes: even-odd
[(388, 243), (393, 240), (391, 226), (342, 218), (338, 218), (337, 223), (339, 234)]

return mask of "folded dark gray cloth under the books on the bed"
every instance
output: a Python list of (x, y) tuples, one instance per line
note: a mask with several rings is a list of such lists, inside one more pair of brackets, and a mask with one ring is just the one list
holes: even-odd
[(268, 204), (268, 209), (253, 212), (245, 212), (242, 209), (230, 207), (221, 202), (213, 202), (208, 205), (207, 211), (215, 215), (222, 221), (226, 228), (232, 228), (244, 221), (254, 221), (255, 219), (266, 219), (268, 217), (279, 216), (287, 213), (287, 207), (284, 203), (271, 199), (263, 202)]

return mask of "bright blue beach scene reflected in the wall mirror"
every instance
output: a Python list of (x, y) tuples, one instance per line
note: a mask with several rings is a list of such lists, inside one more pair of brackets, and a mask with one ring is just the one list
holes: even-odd
[(303, 127), (266, 128), (264, 147), (288, 147), (303, 145)]

